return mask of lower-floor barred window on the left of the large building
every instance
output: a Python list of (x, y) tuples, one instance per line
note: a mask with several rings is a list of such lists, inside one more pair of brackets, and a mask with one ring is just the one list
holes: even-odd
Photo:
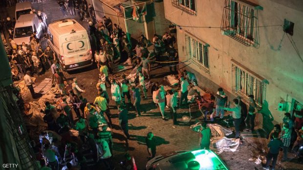
[(188, 35), (185, 35), (186, 40), (186, 53), (190, 61), (209, 73), (209, 59), (208, 59), (208, 44), (203, 44)]

